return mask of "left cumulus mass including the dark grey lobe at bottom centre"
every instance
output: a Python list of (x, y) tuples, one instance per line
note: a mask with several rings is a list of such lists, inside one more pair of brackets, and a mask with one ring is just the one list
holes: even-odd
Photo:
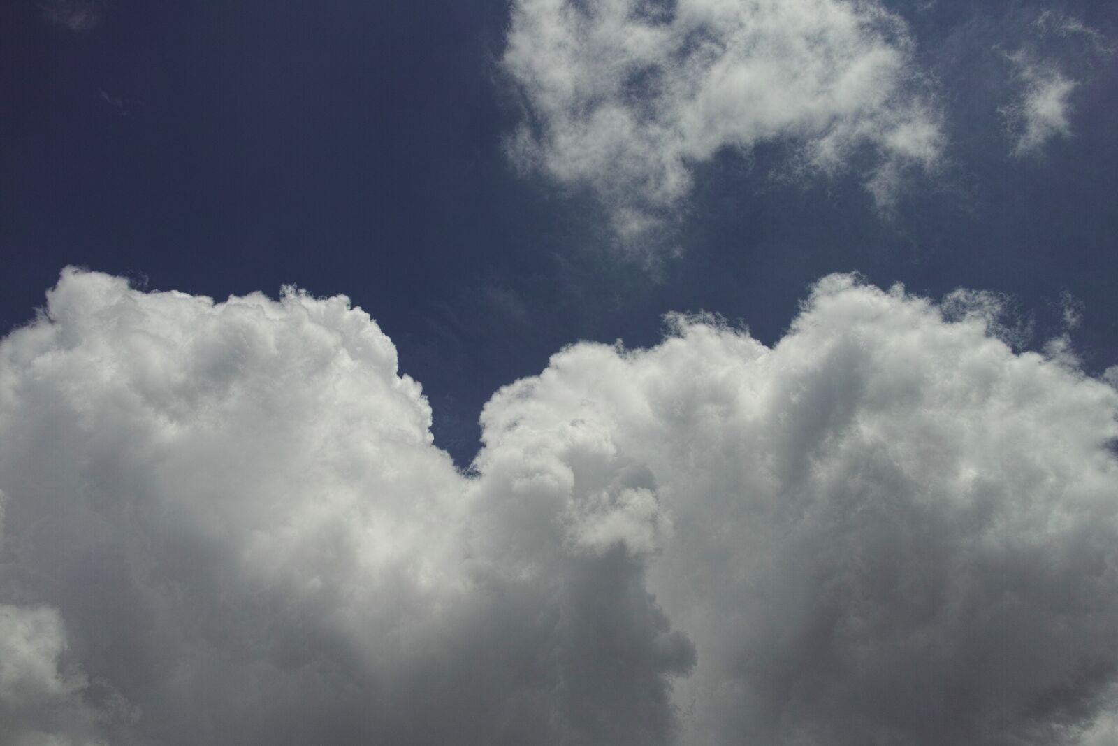
[(58, 610), (140, 712), (114, 744), (667, 740), (692, 648), (641, 557), (536, 462), (463, 478), (429, 426), (344, 298), (67, 271), (0, 347), (0, 603)]

